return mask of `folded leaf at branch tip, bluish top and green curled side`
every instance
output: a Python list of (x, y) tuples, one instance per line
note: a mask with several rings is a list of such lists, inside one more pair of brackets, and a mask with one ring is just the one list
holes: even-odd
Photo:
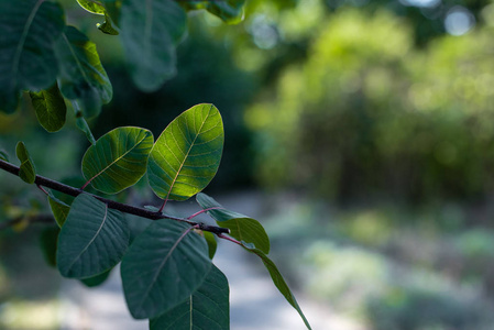
[(197, 202), (202, 209), (208, 210), (208, 215), (215, 219), (219, 226), (230, 229), (230, 235), (252, 243), (264, 253), (270, 253), (270, 238), (262, 224), (244, 215), (233, 212), (223, 208), (218, 201), (206, 194), (197, 194)]

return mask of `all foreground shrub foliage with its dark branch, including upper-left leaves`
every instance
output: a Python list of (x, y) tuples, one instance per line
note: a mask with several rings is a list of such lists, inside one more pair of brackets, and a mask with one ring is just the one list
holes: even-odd
[[(174, 74), (175, 46), (186, 31), (186, 11), (206, 9), (232, 23), (242, 18), (244, 4), (243, 0), (77, 1), (105, 16), (99, 30), (121, 37), (129, 72), (147, 91)], [(129, 310), (136, 319), (150, 319), (150, 329), (229, 329), (228, 280), (212, 264), (216, 240), (223, 239), (261, 257), (275, 286), (310, 329), (267, 257), (270, 239), (261, 223), (200, 193), (215, 177), (222, 156), (224, 132), (218, 109), (209, 103), (195, 106), (173, 120), (156, 140), (151, 131), (136, 127), (117, 128), (96, 140), (86, 119), (97, 117), (113, 94), (96, 45), (66, 25), (57, 2), (0, 1), (0, 29), (8, 32), (0, 37), (0, 109), (14, 111), (20, 95), (29, 91), (41, 125), (55, 132), (65, 124), (67, 99), (74, 106), (77, 127), (91, 142), (81, 161), (85, 183), (79, 189), (36, 175), (22, 142), (17, 146), (19, 167), (0, 154), (0, 168), (46, 194), (59, 231), (46, 234), (43, 244), (50, 246), (47, 258), (59, 273), (95, 286), (121, 263)], [(140, 209), (102, 198), (143, 177), (163, 200), (161, 208)], [(168, 200), (193, 196), (201, 211), (188, 218), (163, 212)], [(191, 220), (205, 212), (218, 227)], [(135, 233), (127, 213), (155, 221)]]

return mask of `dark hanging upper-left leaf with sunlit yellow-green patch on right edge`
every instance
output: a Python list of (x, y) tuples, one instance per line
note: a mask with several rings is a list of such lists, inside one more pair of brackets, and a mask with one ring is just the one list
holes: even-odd
[(56, 43), (62, 94), (79, 100), (84, 117), (92, 118), (113, 95), (110, 79), (101, 65), (95, 43), (73, 26), (66, 26)]

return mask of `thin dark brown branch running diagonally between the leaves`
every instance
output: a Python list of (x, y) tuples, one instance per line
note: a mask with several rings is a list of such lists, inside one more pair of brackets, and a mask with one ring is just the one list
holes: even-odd
[[(13, 164), (11, 164), (11, 163), (9, 163), (9, 162), (0, 160), (0, 168), (6, 170), (6, 172), (9, 172), (10, 174), (19, 176), (19, 167), (13, 165)], [(56, 180), (52, 180), (52, 179), (50, 179), (47, 177), (44, 177), (44, 176), (41, 176), (41, 175), (36, 175), (36, 178), (34, 179), (34, 184), (37, 185), (37, 186), (43, 186), (43, 187), (46, 187), (46, 188), (50, 188), (50, 189), (53, 189), (53, 190), (61, 191), (61, 193), (63, 193), (65, 195), (69, 195), (69, 196), (73, 196), (73, 197), (77, 197), (80, 194), (87, 194), (87, 195), (92, 196), (94, 198), (105, 202), (106, 205), (108, 205), (108, 207), (110, 209), (119, 210), (119, 211), (122, 211), (124, 213), (138, 216), (138, 217), (141, 217), (141, 218), (146, 218), (146, 219), (151, 219), (151, 220), (171, 219), (171, 220), (175, 220), (175, 221), (187, 222), (190, 226), (201, 226), (201, 227), (204, 227), (205, 231), (210, 231), (210, 232), (216, 233), (216, 234), (218, 234), (218, 233), (229, 233), (230, 232), (230, 230), (227, 229), (227, 228), (220, 228), (220, 227), (213, 227), (213, 226), (205, 226), (204, 223), (194, 222), (194, 221), (190, 221), (190, 220), (185, 219), (185, 218), (173, 217), (173, 216), (164, 215), (162, 212), (153, 212), (151, 210), (146, 210), (146, 209), (143, 209), (143, 208), (138, 208), (138, 207), (134, 207), (134, 206), (131, 206), (131, 205), (127, 205), (127, 204), (118, 202), (118, 201), (114, 201), (114, 200), (111, 200), (111, 199), (108, 199), (108, 198), (96, 196), (94, 194), (86, 193), (83, 189), (74, 188), (74, 187), (68, 186), (68, 185), (64, 185), (62, 183), (58, 183)]]

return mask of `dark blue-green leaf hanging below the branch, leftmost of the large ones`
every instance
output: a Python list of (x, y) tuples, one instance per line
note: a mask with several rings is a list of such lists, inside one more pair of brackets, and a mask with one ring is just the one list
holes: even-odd
[(58, 238), (57, 266), (65, 277), (85, 278), (117, 265), (129, 244), (121, 212), (81, 194), (74, 199)]

